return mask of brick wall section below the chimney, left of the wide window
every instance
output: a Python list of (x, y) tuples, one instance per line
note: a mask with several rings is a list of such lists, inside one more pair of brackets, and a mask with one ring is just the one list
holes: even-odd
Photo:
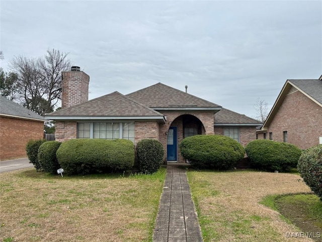
[(55, 140), (63, 142), (65, 140), (77, 138), (77, 123), (76, 122), (62, 122), (55, 123)]

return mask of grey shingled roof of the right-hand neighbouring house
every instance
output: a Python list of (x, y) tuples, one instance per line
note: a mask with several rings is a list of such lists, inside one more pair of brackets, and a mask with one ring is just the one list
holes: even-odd
[(302, 90), (308, 96), (322, 105), (322, 81), (318, 79), (288, 80), (294, 87)]

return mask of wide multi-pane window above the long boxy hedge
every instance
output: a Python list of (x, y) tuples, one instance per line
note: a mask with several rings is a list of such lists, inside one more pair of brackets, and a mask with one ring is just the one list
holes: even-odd
[(127, 139), (134, 143), (135, 124), (129, 123), (77, 123), (77, 138)]

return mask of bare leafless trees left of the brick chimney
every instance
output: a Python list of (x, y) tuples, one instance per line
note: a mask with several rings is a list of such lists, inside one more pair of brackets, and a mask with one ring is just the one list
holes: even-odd
[(70, 67), (67, 54), (49, 48), (43, 58), (18, 56), (10, 61), (22, 105), (40, 115), (54, 110), (61, 99), (61, 72)]

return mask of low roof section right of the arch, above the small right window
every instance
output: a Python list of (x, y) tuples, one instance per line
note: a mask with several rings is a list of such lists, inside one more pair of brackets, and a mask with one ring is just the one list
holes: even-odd
[(262, 123), (259, 120), (248, 117), (244, 114), (233, 112), (226, 108), (221, 108), (220, 111), (214, 114), (215, 126), (260, 126)]

